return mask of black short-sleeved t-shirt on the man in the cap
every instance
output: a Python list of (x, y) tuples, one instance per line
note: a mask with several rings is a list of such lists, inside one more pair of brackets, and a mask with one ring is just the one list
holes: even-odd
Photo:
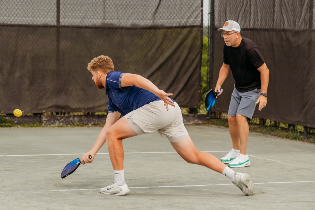
[(265, 60), (254, 41), (242, 37), (238, 47), (224, 45), (223, 63), (230, 65), (239, 92), (261, 88), (260, 72), (257, 69)]

